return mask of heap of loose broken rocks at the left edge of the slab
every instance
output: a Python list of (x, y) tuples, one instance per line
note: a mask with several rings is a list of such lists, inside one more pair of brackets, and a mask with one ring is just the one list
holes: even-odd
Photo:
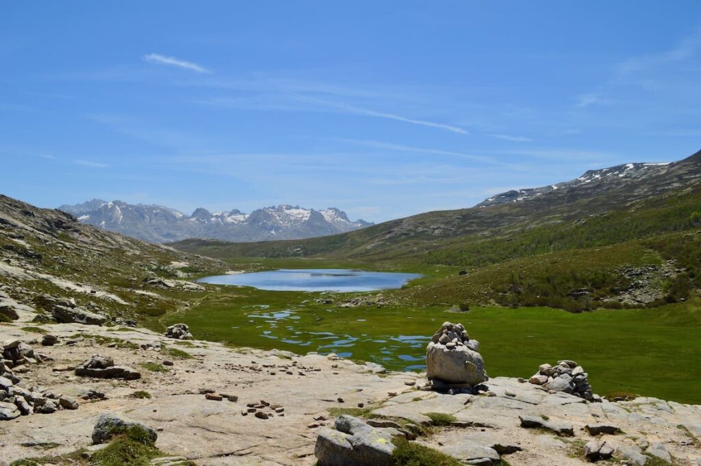
[(25, 364), (41, 364), (46, 357), (19, 340), (6, 340), (0, 345), (0, 420), (11, 420), (32, 413), (49, 414), (60, 409), (78, 409), (72, 397), (27, 387), (16, 375)]

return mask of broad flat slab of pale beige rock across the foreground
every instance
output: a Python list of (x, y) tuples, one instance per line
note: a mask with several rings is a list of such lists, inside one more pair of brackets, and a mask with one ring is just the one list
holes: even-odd
[[(636, 451), (640, 439), (646, 439), (655, 444), (657, 451), (664, 447), (680, 464), (701, 462), (701, 451), (695, 446), (700, 441), (701, 406), (654, 398), (585, 403), (571, 395), (549, 394), (537, 385), (503, 377), (486, 383), (490, 390), (486, 395), (441, 395), (417, 390), (426, 383), (424, 375), (373, 374), (372, 366), (324, 355), (228, 348), (197, 340), (179, 343), (145, 329), (116, 331), (82, 324), (44, 325), (59, 341), (41, 347), (32, 343), (41, 335), (22, 331), (21, 326), (0, 325), (0, 341), (18, 338), (53, 358), (29, 366), (22, 380), (75, 397), (80, 406), (50, 415), (0, 421), (0, 449), (5, 461), (88, 447), (95, 420), (111, 411), (154, 427), (159, 448), (198, 465), (312, 465), (318, 431), (333, 424), (327, 410), (356, 408), (362, 403), (372, 413), (415, 423), (428, 423), (427, 413), (454, 416), (454, 425), (435, 427), (430, 437), (417, 441), (464, 460), (498, 458), (494, 446), (499, 444), (521, 448), (502, 455), (514, 466), (583, 465), (587, 462), (578, 452), (587, 441), (597, 438), (620, 451)], [(65, 345), (68, 337), (76, 334), (119, 338), (137, 347), (178, 348), (189, 352), (193, 359), (177, 359), (154, 349), (111, 348), (109, 343), (98, 344), (83, 337), (73, 338), (74, 345)], [(116, 364), (139, 370), (142, 379), (105, 381), (52, 370), (75, 366), (98, 352), (113, 357)], [(161, 364), (166, 359), (173, 362), (168, 372), (151, 372), (142, 366), (147, 362)], [(407, 381), (415, 385), (407, 385)], [(80, 399), (88, 388), (104, 393), (107, 399)], [(151, 399), (131, 397), (137, 390), (149, 392)], [(231, 402), (226, 396), (222, 401), (207, 399), (207, 390), (236, 395), (238, 400)], [(268, 414), (267, 419), (253, 413), (243, 415), (250, 409), (247, 405), (261, 406), (261, 400), (275, 409), (284, 409), (277, 412), (271, 406), (257, 408)], [(545, 416), (552, 423), (572, 425), (575, 436), (562, 438), (524, 429), (519, 421), (524, 415)], [(601, 423), (615, 425), (625, 434), (592, 437), (584, 428)]]

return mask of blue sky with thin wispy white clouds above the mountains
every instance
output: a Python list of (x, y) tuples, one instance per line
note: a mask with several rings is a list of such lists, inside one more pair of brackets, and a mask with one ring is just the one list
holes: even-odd
[(698, 1), (39, 1), (0, 192), (371, 221), (701, 149)]

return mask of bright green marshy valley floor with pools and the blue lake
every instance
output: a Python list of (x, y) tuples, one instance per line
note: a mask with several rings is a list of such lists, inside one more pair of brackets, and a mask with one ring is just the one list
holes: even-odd
[(701, 312), (695, 301), (580, 314), (538, 307), (461, 312), (445, 304), (346, 307), (343, 303), (456, 270), (409, 266), (400, 268), (402, 273), (385, 273), (348, 263), (227, 262), (232, 270), (253, 273), (200, 277), (199, 282), (216, 286), (189, 308), (162, 316), (154, 328), (185, 322), (196, 338), (233, 348), (334, 352), (388, 370), (421, 371), (433, 333), (445, 321), (460, 322), (480, 342), (490, 376), (529, 378), (544, 362), (573, 359), (599, 395), (622, 392), (701, 403), (695, 376), (701, 371)]

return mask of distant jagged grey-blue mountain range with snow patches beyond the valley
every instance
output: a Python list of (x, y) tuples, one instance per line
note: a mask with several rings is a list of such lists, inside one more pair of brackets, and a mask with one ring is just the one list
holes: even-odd
[(372, 223), (351, 221), (346, 212), (299, 206), (263, 207), (245, 214), (238, 209), (209, 212), (200, 207), (192, 215), (161, 205), (128, 204), (88, 200), (62, 205), (58, 210), (73, 214), (83, 223), (151, 242), (171, 242), (187, 238), (214, 238), (236, 242), (296, 240), (358, 230)]

